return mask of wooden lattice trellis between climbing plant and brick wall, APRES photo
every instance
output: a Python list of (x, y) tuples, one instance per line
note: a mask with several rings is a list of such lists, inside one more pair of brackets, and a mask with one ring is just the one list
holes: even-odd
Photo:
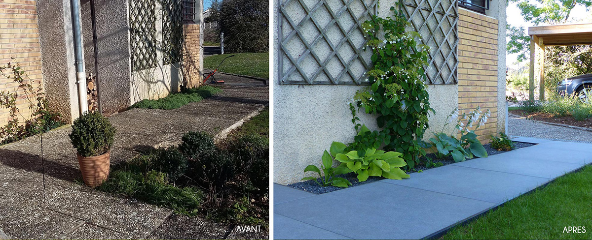
[(428, 83), (458, 83), (458, 1), (403, 0), (403, 12), (430, 47), (424, 66)]

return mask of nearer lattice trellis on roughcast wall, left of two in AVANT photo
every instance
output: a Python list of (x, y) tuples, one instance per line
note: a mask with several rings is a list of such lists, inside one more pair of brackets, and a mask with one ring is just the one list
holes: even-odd
[(150, 0), (130, 0), (131, 69), (157, 66), (156, 5)]

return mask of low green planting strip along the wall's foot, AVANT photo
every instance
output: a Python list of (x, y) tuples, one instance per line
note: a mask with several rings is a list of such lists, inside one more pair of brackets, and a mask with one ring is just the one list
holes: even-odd
[(156, 100), (144, 99), (134, 103), (130, 109), (178, 109), (188, 103), (197, 103), (214, 94), (221, 93), (221, 89), (213, 86), (201, 86), (188, 88), (180, 93), (171, 93), (169, 96)]

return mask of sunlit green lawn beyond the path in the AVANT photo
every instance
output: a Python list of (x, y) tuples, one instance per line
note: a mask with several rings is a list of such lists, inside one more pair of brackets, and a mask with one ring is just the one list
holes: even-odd
[(218, 68), (218, 71), (252, 77), (269, 78), (269, 52), (244, 52), (212, 55), (204, 58), (204, 68), (214, 70), (225, 57), (230, 55), (235, 56), (224, 61), (224, 64)]

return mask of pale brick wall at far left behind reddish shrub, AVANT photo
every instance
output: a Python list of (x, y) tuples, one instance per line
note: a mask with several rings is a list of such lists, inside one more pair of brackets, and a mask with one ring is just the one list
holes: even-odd
[[(0, 65), (5, 66), (7, 63), (20, 65), (33, 81), (31, 85), (34, 88), (42, 86), (41, 47), (34, 0), (0, 0)], [(0, 91), (14, 92), (18, 90), (17, 85), (12, 80), (0, 77)], [(22, 116), (30, 116), (27, 99), (19, 99), (17, 107)], [(7, 123), (8, 117), (8, 109), (0, 109), (0, 126)], [(24, 119), (20, 120), (22, 122)]]

